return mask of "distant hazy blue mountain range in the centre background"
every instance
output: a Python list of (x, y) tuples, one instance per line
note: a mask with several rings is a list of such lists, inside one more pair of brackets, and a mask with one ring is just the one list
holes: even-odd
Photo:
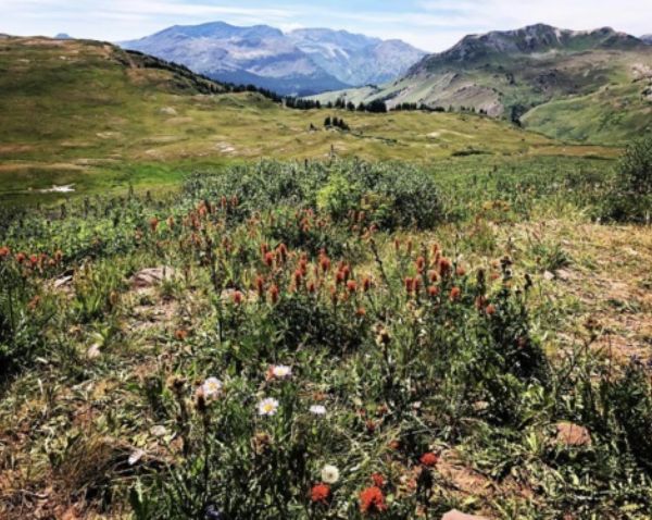
[(120, 45), (216, 81), (298, 96), (384, 84), (426, 55), (401, 40), (346, 30), (305, 28), (286, 34), (267, 25), (238, 27), (224, 22), (175, 25)]

